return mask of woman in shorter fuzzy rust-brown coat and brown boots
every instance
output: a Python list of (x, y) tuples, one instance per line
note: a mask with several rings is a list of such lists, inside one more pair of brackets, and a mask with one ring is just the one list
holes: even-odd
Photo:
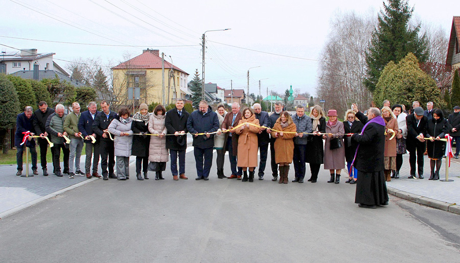
[[(278, 131), (274, 131), (278, 130)], [(279, 184), (288, 183), (289, 164), (292, 163), (294, 157), (294, 135), (297, 128), (292, 122), (292, 118), (288, 112), (284, 111), (280, 114), (277, 122), (271, 131), (272, 138), (277, 138), (274, 143), (275, 162), (280, 165), (280, 181)], [(290, 133), (285, 133), (285, 132)]]

